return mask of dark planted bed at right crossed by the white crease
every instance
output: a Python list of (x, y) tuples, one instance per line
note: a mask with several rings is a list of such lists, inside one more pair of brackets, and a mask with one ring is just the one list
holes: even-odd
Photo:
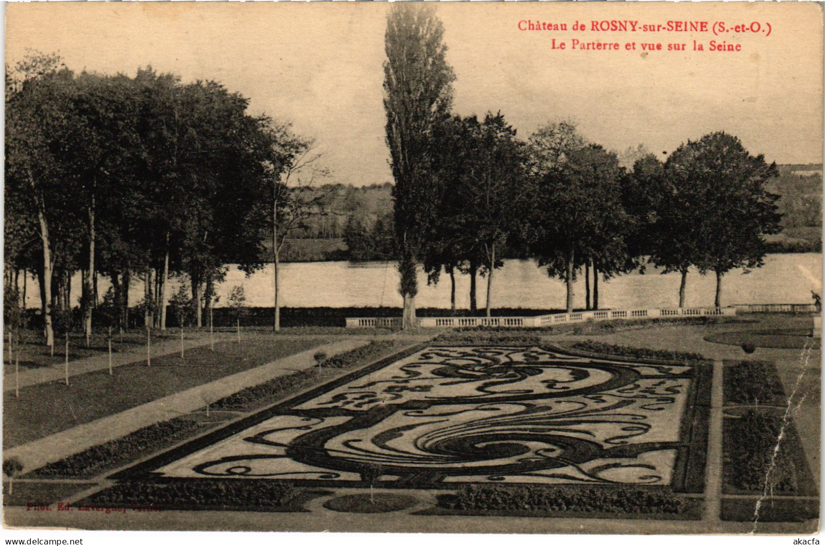
[[(790, 442), (779, 441), (783, 419), (748, 410), (738, 419), (730, 419), (725, 443), (728, 445), (728, 476), (735, 487), (761, 492), (795, 492), (798, 469)], [(776, 450), (779, 442), (779, 450)], [(767, 478), (767, 484), (766, 484)]]

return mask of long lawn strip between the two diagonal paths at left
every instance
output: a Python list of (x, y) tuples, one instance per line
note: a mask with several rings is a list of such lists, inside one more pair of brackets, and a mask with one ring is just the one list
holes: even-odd
[(21, 388), (20, 398), (3, 398), (3, 447), (8, 449), (82, 423), (178, 393), (187, 388), (237, 374), (323, 342), (323, 338), (292, 340), (247, 337), (224, 341), (115, 369), (79, 374), (68, 386), (59, 381)]

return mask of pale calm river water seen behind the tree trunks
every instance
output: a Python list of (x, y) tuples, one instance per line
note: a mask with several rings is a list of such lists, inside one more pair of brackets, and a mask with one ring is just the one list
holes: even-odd
[[(822, 291), (823, 256), (820, 253), (771, 254), (765, 266), (743, 273), (731, 271), (724, 276), (722, 304), (810, 304), (811, 290)], [(442, 275), (438, 285), (427, 286), (427, 275), (419, 271), (418, 307), (450, 307), (450, 278)], [(22, 281), (21, 281), (22, 283)], [(179, 281), (172, 280), (168, 294), (174, 294)], [(271, 307), (273, 295), (272, 266), (246, 277), (243, 271), (229, 266), (226, 280), (218, 287), (218, 307), (226, 304), (229, 290), (241, 285), (250, 307)], [(687, 276), (686, 305), (714, 304), (715, 275)], [(106, 293), (109, 283), (102, 279), (98, 292)], [(486, 302), (487, 280), (479, 278), (479, 308)], [(80, 295), (80, 275), (73, 278), (72, 295)], [(655, 308), (679, 303), (679, 275), (661, 275), (648, 268), (599, 283), (602, 308)], [(575, 305), (584, 307), (584, 283), (575, 285)], [(134, 283), (130, 302), (143, 298), (143, 284)], [(493, 277), (493, 307), (563, 308), (563, 282), (551, 279), (534, 261), (507, 260)], [(35, 280), (29, 281), (26, 304), (39, 306)], [(281, 264), (281, 304), (284, 307), (401, 307), (398, 295), (398, 271), (393, 262), (350, 263), (323, 261)], [(456, 275), (456, 304), (469, 308), (469, 277)]]

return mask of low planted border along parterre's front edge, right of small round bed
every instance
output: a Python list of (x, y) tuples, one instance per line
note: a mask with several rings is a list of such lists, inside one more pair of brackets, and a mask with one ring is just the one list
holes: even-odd
[(608, 514), (681, 514), (687, 503), (663, 489), (642, 487), (460, 487), (455, 509), (465, 511), (573, 511)]

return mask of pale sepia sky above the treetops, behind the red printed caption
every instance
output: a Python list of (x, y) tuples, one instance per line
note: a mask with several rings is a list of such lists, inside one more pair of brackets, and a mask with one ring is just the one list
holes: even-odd
[[(183, 81), (215, 79), (250, 97), (252, 113), (313, 136), (332, 181), (391, 180), (381, 103), (388, 5), (347, 3), (45, 2), (7, 4), (7, 63), (27, 48), (68, 68), (134, 75), (139, 66)], [(440, 2), (457, 113), (502, 111), (523, 138), (553, 120), (617, 151), (662, 156), (725, 130), (768, 161), (822, 162), (823, 15), (790, 2)], [(519, 31), (519, 21), (760, 21), (771, 35)], [(619, 42), (620, 51), (570, 49)], [(568, 49), (551, 49), (551, 40)], [(740, 52), (694, 52), (725, 40)], [(624, 49), (684, 43), (685, 52)], [(637, 45), (639, 48), (640, 45)]]

